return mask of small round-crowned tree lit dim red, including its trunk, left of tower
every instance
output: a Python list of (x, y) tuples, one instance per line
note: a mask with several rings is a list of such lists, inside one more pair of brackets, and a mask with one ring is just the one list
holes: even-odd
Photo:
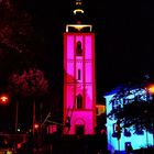
[[(42, 120), (42, 112), (45, 107), (43, 102), (50, 94), (48, 80), (45, 78), (44, 73), (37, 68), (29, 68), (21, 74), (14, 73), (9, 78), (9, 90), (12, 97), (15, 98), (16, 103), (19, 103), (19, 98), (22, 98), (20, 101), (24, 109), (30, 107), (28, 109), (31, 111), (29, 111), (30, 116), (25, 118), (30, 119), (29, 124), (33, 123), (32, 128), (34, 129), (35, 122), (41, 122)], [(31, 117), (32, 113), (33, 117)], [(35, 117), (36, 113), (37, 117)]]

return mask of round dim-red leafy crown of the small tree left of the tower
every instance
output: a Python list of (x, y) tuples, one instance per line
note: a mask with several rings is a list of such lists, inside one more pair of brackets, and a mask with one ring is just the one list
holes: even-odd
[(14, 95), (40, 97), (47, 94), (48, 81), (42, 70), (30, 68), (22, 74), (12, 74), (9, 78), (9, 88)]

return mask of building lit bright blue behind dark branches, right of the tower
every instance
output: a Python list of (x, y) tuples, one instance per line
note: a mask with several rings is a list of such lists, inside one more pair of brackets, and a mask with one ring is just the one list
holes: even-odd
[[(117, 101), (117, 103), (111, 103), (112, 99), (117, 96), (121, 87), (116, 88), (109, 94), (105, 95), (106, 98), (106, 107), (107, 107), (107, 114), (117, 107), (123, 106), (123, 99)], [(129, 101), (133, 101), (134, 98), (138, 96), (140, 99), (147, 100), (147, 91), (146, 88), (133, 88), (129, 91), (130, 94), (127, 95), (125, 99)], [(151, 97), (151, 98), (150, 98)], [(152, 99), (152, 96), (148, 98)], [(130, 111), (131, 114), (131, 111)], [(140, 133), (134, 133), (133, 128), (122, 129), (121, 138), (118, 141), (117, 136), (117, 120), (111, 120), (107, 118), (107, 138), (108, 138), (108, 150), (111, 154), (120, 151), (120, 153), (125, 153), (125, 148), (128, 146), (132, 146), (133, 150), (139, 150), (141, 147), (147, 147), (147, 145), (154, 145), (153, 133), (148, 133), (145, 130), (142, 130)]]

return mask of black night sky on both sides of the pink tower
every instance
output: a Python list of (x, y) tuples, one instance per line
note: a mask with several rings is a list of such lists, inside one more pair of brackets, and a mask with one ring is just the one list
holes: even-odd
[[(53, 2), (53, 3), (52, 3)], [(73, 16), (73, 0), (25, 0), (36, 31), (45, 37), (47, 68), (63, 82), (63, 33)], [(87, 0), (86, 20), (96, 33), (98, 96), (119, 84), (153, 76), (154, 2), (148, 0)]]

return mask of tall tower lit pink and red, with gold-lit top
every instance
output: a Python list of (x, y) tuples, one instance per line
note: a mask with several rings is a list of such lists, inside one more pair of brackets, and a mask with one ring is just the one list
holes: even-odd
[(64, 134), (90, 135), (96, 127), (95, 33), (75, 1), (73, 24), (64, 33)]

